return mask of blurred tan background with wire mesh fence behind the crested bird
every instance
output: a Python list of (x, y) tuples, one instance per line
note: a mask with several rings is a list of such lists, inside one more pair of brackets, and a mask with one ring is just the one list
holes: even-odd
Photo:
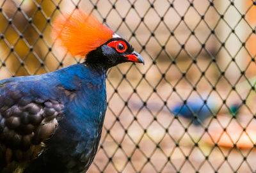
[(108, 71), (108, 110), (88, 172), (256, 171), (256, 2), (0, 0), (0, 79), (83, 62), (51, 23), (92, 12), (145, 59)]

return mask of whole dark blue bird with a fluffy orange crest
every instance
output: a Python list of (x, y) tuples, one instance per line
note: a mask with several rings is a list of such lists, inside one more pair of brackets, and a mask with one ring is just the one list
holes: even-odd
[(83, 10), (63, 13), (52, 27), (56, 44), (84, 62), (0, 81), (0, 172), (86, 172), (102, 133), (108, 69), (144, 64), (128, 41)]

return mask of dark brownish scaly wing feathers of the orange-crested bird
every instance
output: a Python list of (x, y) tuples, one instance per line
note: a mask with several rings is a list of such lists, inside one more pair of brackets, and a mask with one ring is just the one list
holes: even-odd
[(33, 97), (15, 82), (0, 84), (0, 172), (22, 169), (42, 153), (62, 110), (58, 100)]

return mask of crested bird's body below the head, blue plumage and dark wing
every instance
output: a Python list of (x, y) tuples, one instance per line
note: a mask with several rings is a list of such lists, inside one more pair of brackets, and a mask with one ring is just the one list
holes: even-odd
[(105, 75), (77, 64), (1, 80), (1, 172), (88, 169), (106, 112)]

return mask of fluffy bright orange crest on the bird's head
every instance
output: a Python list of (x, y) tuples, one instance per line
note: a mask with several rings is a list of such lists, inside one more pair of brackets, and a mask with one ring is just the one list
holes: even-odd
[(52, 34), (72, 56), (85, 57), (88, 52), (106, 43), (114, 34), (92, 15), (80, 10), (65, 13), (53, 23)]

